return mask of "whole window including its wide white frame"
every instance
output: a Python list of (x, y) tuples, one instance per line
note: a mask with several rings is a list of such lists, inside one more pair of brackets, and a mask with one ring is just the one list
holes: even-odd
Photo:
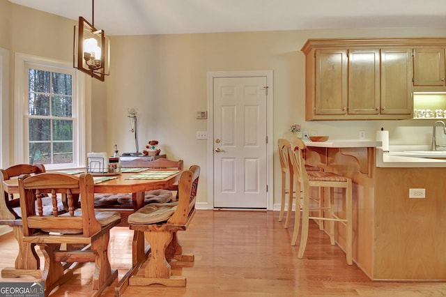
[(16, 66), (19, 80), (22, 77), (16, 110), (23, 115), (23, 125), (17, 127), (23, 141), (17, 142), (24, 152), (16, 162), (41, 163), (47, 169), (84, 167), (84, 112), (79, 112), (84, 105), (77, 96), (83, 88), (77, 84), (77, 71), (65, 63), (22, 54), (15, 60), (21, 64)]

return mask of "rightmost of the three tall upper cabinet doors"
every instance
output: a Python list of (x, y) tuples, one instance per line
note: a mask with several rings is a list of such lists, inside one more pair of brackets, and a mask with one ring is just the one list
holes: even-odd
[(411, 49), (381, 50), (381, 114), (411, 114)]

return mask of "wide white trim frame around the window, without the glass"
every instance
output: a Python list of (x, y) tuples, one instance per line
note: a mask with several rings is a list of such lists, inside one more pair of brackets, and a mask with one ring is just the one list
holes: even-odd
[(75, 68), (68, 61), (59, 61), (29, 54), (15, 54), (15, 153), (16, 164), (29, 163), (29, 109), (28, 109), (28, 69), (38, 69), (72, 75), (72, 118), (73, 121), (73, 162), (70, 164), (45, 164), (45, 169), (84, 168), (86, 165), (86, 119), (85, 84)]

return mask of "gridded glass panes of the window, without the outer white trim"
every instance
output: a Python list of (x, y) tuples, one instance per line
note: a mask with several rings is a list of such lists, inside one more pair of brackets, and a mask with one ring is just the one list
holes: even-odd
[(29, 164), (71, 164), (72, 75), (38, 68), (27, 69)]

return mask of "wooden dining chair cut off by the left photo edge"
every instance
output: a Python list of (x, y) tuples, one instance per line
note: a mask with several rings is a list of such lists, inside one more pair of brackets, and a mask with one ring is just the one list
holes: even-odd
[(4, 193), (0, 198), (0, 224), (8, 225), (13, 228), (14, 237), (19, 245), (17, 258), (14, 267), (6, 267), (1, 270), (1, 277), (20, 277), (30, 275), (40, 278), (40, 258), (35, 250), (34, 243), (24, 243), (22, 241), (22, 218), (20, 211), (20, 201), (13, 194), (8, 194), (3, 190), (2, 181), (10, 178), (16, 178), (20, 174), (40, 174), (45, 172), (44, 165), (20, 164), (0, 169), (0, 193)]

